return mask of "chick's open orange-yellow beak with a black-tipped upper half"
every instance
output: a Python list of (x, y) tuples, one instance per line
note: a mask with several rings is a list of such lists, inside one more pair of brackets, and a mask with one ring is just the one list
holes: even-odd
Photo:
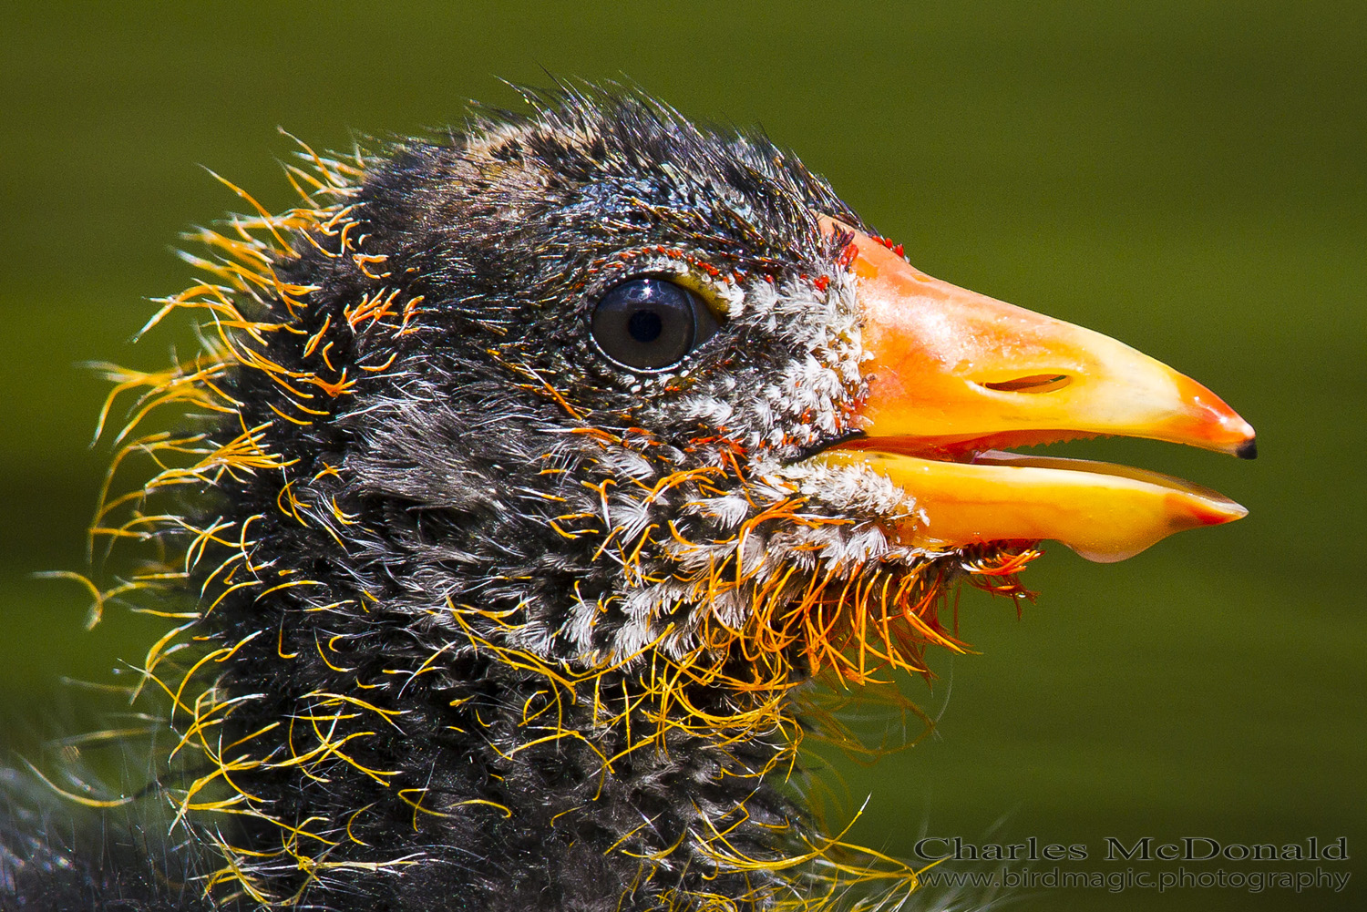
[(1252, 427), (1206, 387), (1099, 332), (934, 279), (868, 235), (854, 232), (846, 261), (863, 310), (865, 436), (813, 458), (901, 485), (915, 500), (904, 543), (1054, 539), (1121, 561), (1247, 514), (1155, 472), (1001, 451), (1121, 435), (1252, 458)]

